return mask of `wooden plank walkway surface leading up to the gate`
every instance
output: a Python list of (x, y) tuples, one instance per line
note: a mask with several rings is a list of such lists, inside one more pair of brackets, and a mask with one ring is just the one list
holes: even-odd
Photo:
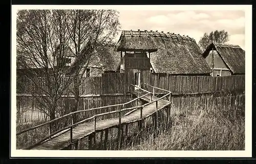
[[(137, 92), (135, 92), (137, 95)], [(150, 102), (150, 95), (143, 97), (144, 101)], [(158, 98), (152, 96), (152, 101), (157, 100)], [(158, 100), (158, 110), (163, 109), (168, 106), (170, 103), (166, 100)], [(156, 112), (156, 103), (148, 104), (142, 109), (142, 119), (147, 118), (148, 116)], [(131, 122), (136, 122), (141, 119), (140, 110), (134, 110), (128, 112), (127, 115), (121, 117), (121, 124), (127, 124)], [(119, 118), (112, 118), (97, 121), (96, 131), (101, 131), (108, 128), (118, 127)], [(80, 140), (90, 134), (94, 133), (94, 122), (79, 124), (74, 127), (72, 130), (73, 140)], [(31, 148), (33, 150), (61, 150), (70, 146), (70, 130), (66, 130), (58, 133), (55, 137), (52, 137), (50, 140), (46, 140), (43, 143), (38, 144), (37, 146)]]

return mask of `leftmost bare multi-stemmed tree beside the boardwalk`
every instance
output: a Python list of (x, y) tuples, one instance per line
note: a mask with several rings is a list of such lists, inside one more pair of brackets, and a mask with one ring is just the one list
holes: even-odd
[[(69, 85), (61, 81), (63, 64), (56, 64), (56, 60), (64, 62), (63, 50), (68, 42), (63, 14), (60, 10), (20, 10), (17, 13), (17, 68), (23, 69), (24, 76), (36, 86), (31, 94), (50, 120), (55, 119), (58, 101)], [(39, 83), (33, 76), (36, 74), (44, 75)]]

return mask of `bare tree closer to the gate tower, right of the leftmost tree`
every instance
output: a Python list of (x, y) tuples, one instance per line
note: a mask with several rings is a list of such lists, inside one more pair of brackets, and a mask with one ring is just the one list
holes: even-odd
[(76, 56), (70, 68), (70, 73), (74, 77), (75, 105), (73, 111), (76, 111), (78, 110), (81, 79), (93, 54), (113, 42), (120, 24), (118, 12), (115, 10), (69, 10), (66, 12), (68, 13), (65, 21), (70, 36), (69, 45)]

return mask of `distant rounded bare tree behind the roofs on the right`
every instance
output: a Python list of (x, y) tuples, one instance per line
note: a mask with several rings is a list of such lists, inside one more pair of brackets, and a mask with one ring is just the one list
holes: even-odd
[(209, 34), (204, 33), (204, 35), (200, 38), (198, 44), (202, 51), (204, 51), (207, 46), (214, 42), (214, 43), (225, 43), (229, 40), (229, 34), (225, 30), (221, 31), (212, 31)]

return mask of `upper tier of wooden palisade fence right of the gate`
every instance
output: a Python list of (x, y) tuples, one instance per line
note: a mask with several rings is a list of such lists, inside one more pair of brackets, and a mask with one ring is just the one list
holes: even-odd
[[(245, 90), (245, 75), (211, 77), (211, 76), (168, 76), (151, 74), (150, 83), (173, 93), (205, 93), (219, 91)], [(148, 88), (151, 89), (152, 88)], [(156, 89), (156, 92), (161, 92)]]

